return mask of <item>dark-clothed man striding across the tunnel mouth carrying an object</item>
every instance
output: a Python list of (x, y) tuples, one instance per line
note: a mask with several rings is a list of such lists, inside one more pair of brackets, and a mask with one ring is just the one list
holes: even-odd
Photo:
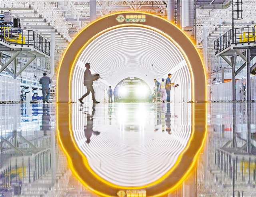
[(94, 79), (94, 77), (92, 76), (92, 73), (90, 71), (90, 64), (89, 63), (86, 63), (85, 67), (86, 67), (86, 70), (84, 71), (84, 85), (86, 86), (87, 92), (78, 100), (80, 101), (80, 103), (83, 104), (84, 102), (82, 100), (85, 97), (87, 97), (91, 92), (93, 103), (100, 103), (100, 102), (95, 100), (95, 92), (94, 92), (94, 89), (92, 87), (93, 81), (97, 81), (98, 78)]

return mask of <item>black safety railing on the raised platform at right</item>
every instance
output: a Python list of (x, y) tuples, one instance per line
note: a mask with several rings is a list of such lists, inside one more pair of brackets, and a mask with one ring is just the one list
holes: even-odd
[(228, 30), (228, 32), (224, 33), (214, 41), (215, 55), (221, 53), (231, 45), (251, 43), (256, 43), (256, 26), (234, 28), (233, 30)]

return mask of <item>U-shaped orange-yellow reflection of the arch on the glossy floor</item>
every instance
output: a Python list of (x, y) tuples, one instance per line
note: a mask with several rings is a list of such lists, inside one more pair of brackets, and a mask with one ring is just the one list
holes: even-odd
[[(175, 111), (179, 111), (181, 121), (176, 121), (177, 125), (181, 125), (184, 129), (187, 129), (185, 122), (186, 118), (191, 117), (191, 135), (186, 144), (184, 150), (179, 154), (175, 164), (169, 169), (162, 177), (158, 178), (156, 181), (148, 183), (146, 185), (136, 186), (124, 186), (114, 184), (104, 177), (100, 177), (94, 170), (92, 170), (90, 162), (88, 162), (87, 158), (84, 156), (84, 153), (78, 147), (76, 142), (76, 138), (74, 137), (74, 128), (82, 127), (84, 124), (81, 121), (74, 121), (79, 119), (77, 115), (77, 111), (75, 110), (76, 106), (72, 105), (62, 105), (58, 106), (58, 113), (61, 111), (69, 111), (69, 117), (65, 116), (64, 113), (58, 114), (58, 137), (60, 140), (60, 144), (68, 157), (68, 163), (74, 175), (82, 182), (88, 189), (93, 191), (94, 193), (101, 196), (116, 196), (116, 193), (120, 190), (128, 190), (128, 189), (142, 189), (146, 190), (148, 196), (156, 195), (160, 196), (166, 194), (168, 192), (173, 191), (178, 185), (186, 179), (190, 171), (195, 166), (195, 162), (197, 160), (199, 152), (203, 148), (204, 140), (206, 138), (206, 104), (183, 104), (190, 105), (191, 111), (186, 111), (186, 107), (179, 106), (175, 107)], [(99, 110), (102, 110), (102, 114), (106, 116), (106, 110), (104, 111), (104, 107), (98, 106)], [(174, 110), (174, 109), (172, 109)], [(97, 111), (95, 113), (95, 117), (97, 116)], [(108, 122), (109, 120), (98, 120), (97, 124), (102, 124), (104, 121)], [(69, 125), (66, 123), (69, 122)], [(174, 122), (171, 122), (174, 124)], [(69, 128), (69, 129), (68, 129)], [(175, 128), (175, 127), (174, 127)], [(79, 133), (79, 132), (78, 132)], [(97, 136), (95, 136), (95, 139)], [(72, 143), (71, 143), (72, 142)], [(83, 162), (79, 162), (83, 161)], [(148, 181), (148, 182), (150, 182)]]

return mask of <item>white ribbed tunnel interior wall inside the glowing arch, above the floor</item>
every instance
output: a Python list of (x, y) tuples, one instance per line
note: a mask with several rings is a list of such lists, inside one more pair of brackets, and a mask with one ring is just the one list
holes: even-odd
[[(122, 27), (103, 33), (82, 51), (72, 77), (72, 101), (85, 92), (84, 64), (88, 62), (93, 72), (104, 80), (94, 82), (96, 99), (102, 101), (104, 89), (115, 87), (127, 77), (138, 77), (150, 87), (153, 79), (161, 81), (172, 73), (172, 101), (191, 100), (191, 77), (187, 63), (174, 43), (160, 33), (142, 27)], [(91, 101), (87, 97), (86, 101)]]

